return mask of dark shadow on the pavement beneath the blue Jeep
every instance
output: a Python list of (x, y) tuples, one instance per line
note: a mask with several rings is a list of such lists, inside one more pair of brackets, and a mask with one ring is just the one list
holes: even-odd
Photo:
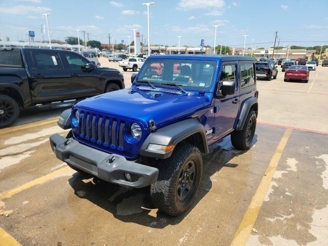
[[(255, 134), (252, 146), (256, 141), (257, 135)], [(168, 224), (178, 224), (182, 221), (211, 190), (212, 181), (210, 177), (223, 167), (238, 167), (238, 164), (228, 162), (235, 156), (247, 152), (234, 149), (230, 142), (230, 136), (212, 146), (210, 151), (210, 154), (203, 155), (203, 173), (196, 197), (190, 208), (178, 217), (172, 217), (154, 210), (155, 207), (151, 201), (149, 187), (128, 190), (98, 178), (90, 179), (90, 176), (86, 177), (80, 173), (75, 173), (69, 179), (69, 183), (76, 196), (79, 196), (82, 191), (83, 196), (79, 196), (80, 198), (87, 199), (96, 206), (112, 213), (115, 218), (124, 222), (133, 222), (142, 226), (161, 229)], [(85, 180), (86, 178), (89, 178), (89, 180)]]

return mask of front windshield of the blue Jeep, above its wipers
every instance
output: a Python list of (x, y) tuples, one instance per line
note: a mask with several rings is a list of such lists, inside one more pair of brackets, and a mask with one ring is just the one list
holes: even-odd
[(151, 83), (174, 83), (183, 89), (207, 90), (212, 86), (217, 63), (207, 60), (149, 59), (136, 80)]

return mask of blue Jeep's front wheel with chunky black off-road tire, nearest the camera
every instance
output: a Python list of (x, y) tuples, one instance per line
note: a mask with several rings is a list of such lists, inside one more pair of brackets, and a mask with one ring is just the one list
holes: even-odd
[(178, 145), (172, 156), (159, 160), (156, 167), (158, 178), (150, 186), (153, 204), (163, 213), (178, 216), (189, 208), (198, 190), (202, 174), (200, 151), (190, 144)]

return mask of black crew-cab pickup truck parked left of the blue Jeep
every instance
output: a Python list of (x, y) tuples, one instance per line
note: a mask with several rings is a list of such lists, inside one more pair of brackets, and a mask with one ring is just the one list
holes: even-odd
[(97, 67), (73, 51), (2, 49), (0, 128), (12, 125), (20, 108), (86, 98), (123, 88), (124, 78), (117, 69)]

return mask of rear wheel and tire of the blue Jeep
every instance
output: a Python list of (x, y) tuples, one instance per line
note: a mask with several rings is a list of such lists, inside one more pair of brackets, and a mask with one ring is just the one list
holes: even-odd
[(231, 143), (233, 147), (239, 150), (248, 150), (251, 147), (256, 129), (256, 113), (251, 110), (245, 120), (241, 131), (231, 133)]

